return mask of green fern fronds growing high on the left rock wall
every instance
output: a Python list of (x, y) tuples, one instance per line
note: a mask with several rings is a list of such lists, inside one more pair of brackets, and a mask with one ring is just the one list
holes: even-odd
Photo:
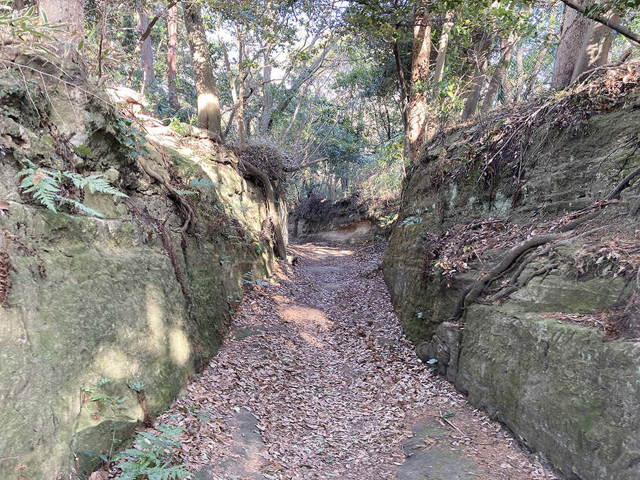
[(109, 182), (102, 177), (102, 175), (89, 175), (88, 177), (83, 177), (82, 175), (66, 170), (53, 172), (51, 170), (36, 167), (36, 165), (28, 158), (21, 160), (21, 162), (23, 164), (23, 169), (16, 174), (16, 177), (21, 179), (20, 188), (23, 188), (23, 194), (30, 194), (34, 200), (44, 205), (52, 212), (57, 212), (57, 207), (60, 205), (69, 204), (75, 207), (79, 212), (103, 218), (103, 214), (97, 210), (93, 210), (93, 208), (89, 208), (77, 200), (64, 197), (60, 194), (62, 191), (62, 185), (65, 182), (70, 182), (79, 190), (88, 188), (91, 193), (101, 192), (114, 195), (116, 197), (127, 197), (123, 192), (113, 188)]

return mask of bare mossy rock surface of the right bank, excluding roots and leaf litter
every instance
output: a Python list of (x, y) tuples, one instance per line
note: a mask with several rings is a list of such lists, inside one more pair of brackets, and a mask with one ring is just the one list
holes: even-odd
[[(487, 298), (508, 285), (504, 282), (513, 278), (527, 255), (491, 282), (491, 291), (463, 310), (461, 318), (451, 317), (465, 288), (497, 265), (514, 244), (536, 235), (554, 217), (604, 199), (636, 168), (639, 122), (639, 110), (623, 108), (592, 116), (589, 134), (538, 129), (521, 160), (495, 166), (491, 186), (484, 190), (479, 188), (480, 179), (487, 178), (481, 167), (460, 174), (455, 165), (468, 158), (469, 138), (476, 129), (499, 134), (501, 124), (489, 120), (446, 132), (410, 172), (383, 262), (395, 307), (407, 336), (418, 345), (418, 355), (425, 361), (437, 359), (440, 372), (467, 393), (471, 403), (504, 422), (569, 479), (640, 477), (638, 319), (633, 308), (625, 310), (634, 304), (637, 265), (615, 276), (621, 264), (611, 261), (605, 268), (610, 260), (599, 258), (604, 254), (590, 257), (604, 263), (594, 263), (589, 272), (580, 263), (584, 249), (608, 248), (606, 242), (613, 238), (615, 243), (618, 231), (626, 232), (630, 242), (640, 240), (637, 219), (626, 219), (637, 198), (635, 186), (624, 191), (619, 203), (604, 207), (597, 220), (576, 230), (584, 236), (524, 265), (520, 278), (530, 280), (510, 296)], [(513, 228), (520, 228), (519, 237), (511, 243), (496, 241), (495, 247), (473, 255), (470, 250), (482, 250), (482, 244), (469, 240), (471, 227), (460, 240), (465, 228), (456, 225), (489, 217), (503, 218), (504, 223), (509, 219)], [(447, 277), (443, 268), (453, 267), (439, 265), (452, 259), (434, 246), (445, 231), (455, 228), (460, 234), (450, 243), (458, 238), (460, 252), (469, 253), (466, 263), (458, 264), (460, 271)], [(593, 318), (609, 310), (624, 317), (618, 332), (608, 331), (605, 338), (602, 328), (581, 326), (600, 327)], [(566, 315), (576, 312), (587, 315), (575, 325), (567, 323)]]

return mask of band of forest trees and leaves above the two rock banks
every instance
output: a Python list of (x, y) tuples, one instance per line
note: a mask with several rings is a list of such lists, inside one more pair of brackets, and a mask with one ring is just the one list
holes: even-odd
[(132, 89), (164, 125), (278, 151), (295, 203), (393, 197), (439, 129), (624, 62), (637, 3), (13, 0), (0, 32)]

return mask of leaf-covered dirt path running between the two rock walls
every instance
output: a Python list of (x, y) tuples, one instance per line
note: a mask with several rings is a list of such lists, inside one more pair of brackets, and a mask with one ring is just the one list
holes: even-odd
[(293, 251), (293, 270), (247, 293), (218, 355), (158, 418), (186, 428), (196, 479), (556, 478), (419, 362), (380, 247)]

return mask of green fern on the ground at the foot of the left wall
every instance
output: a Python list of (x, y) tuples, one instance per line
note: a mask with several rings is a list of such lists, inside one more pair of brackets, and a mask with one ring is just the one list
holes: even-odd
[(160, 425), (156, 431), (156, 435), (139, 432), (133, 448), (115, 455), (115, 462), (123, 461), (118, 465), (123, 470), (121, 480), (182, 480), (190, 475), (176, 453), (184, 429)]

